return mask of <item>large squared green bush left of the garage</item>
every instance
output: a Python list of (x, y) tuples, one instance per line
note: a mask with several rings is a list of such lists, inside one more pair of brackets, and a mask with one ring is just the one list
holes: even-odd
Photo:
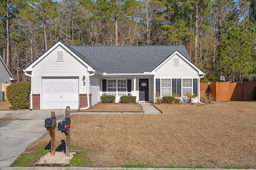
[(6, 97), (13, 109), (28, 109), (30, 90), (30, 82), (18, 82), (7, 86)]

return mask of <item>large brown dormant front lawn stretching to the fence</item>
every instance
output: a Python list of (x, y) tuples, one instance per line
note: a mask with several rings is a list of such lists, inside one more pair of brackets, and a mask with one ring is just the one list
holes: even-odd
[[(256, 168), (256, 102), (155, 106), (162, 114), (73, 115), (70, 143), (87, 151), (82, 166)], [(56, 131), (56, 146), (63, 139)], [(44, 135), (22, 155), (49, 141)]]

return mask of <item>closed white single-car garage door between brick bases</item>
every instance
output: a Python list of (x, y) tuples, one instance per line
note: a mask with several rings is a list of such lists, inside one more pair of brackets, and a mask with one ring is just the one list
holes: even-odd
[(44, 77), (43, 109), (78, 109), (78, 77)]

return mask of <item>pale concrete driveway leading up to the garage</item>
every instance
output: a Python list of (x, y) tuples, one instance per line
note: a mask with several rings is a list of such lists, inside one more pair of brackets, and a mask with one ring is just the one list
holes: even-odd
[[(48, 133), (44, 121), (51, 111), (55, 112), (57, 123), (66, 116), (65, 109), (0, 111), (0, 167), (10, 166), (26, 147)], [(77, 112), (70, 110), (70, 115)]]

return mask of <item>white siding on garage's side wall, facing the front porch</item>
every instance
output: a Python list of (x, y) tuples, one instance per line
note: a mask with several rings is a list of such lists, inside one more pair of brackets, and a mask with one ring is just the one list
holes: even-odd
[(98, 75), (90, 76), (89, 92), (92, 94), (92, 106), (96, 105), (100, 99), (100, 78)]

